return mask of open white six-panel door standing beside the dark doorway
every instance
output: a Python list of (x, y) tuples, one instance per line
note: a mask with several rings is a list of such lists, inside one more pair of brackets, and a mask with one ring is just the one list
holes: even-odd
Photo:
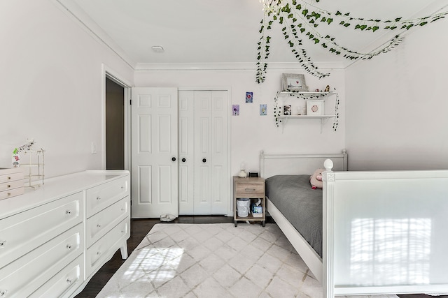
[(132, 217), (179, 214), (177, 88), (132, 89)]

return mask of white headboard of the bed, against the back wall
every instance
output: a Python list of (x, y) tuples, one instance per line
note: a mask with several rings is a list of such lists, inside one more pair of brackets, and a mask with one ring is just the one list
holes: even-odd
[(323, 168), (325, 159), (333, 162), (333, 171), (347, 170), (347, 153), (340, 154), (265, 154), (260, 152), (260, 177), (268, 178), (279, 174), (313, 174)]

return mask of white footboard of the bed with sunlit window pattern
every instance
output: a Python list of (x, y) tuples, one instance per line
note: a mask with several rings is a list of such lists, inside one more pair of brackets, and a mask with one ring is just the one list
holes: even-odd
[(323, 179), (323, 293), (448, 292), (448, 171)]

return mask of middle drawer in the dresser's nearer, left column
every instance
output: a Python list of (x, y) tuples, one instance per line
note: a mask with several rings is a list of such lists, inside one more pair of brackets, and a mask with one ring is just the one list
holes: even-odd
[(1, 269), (6, 297), (28, 297), (83, 253), (83, 225), (60, 234)]

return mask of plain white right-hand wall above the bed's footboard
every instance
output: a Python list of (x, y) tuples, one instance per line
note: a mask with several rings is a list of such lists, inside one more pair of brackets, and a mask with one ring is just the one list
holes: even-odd
[(448, 20), (346, 69), (350, 170), (448, 168)]

